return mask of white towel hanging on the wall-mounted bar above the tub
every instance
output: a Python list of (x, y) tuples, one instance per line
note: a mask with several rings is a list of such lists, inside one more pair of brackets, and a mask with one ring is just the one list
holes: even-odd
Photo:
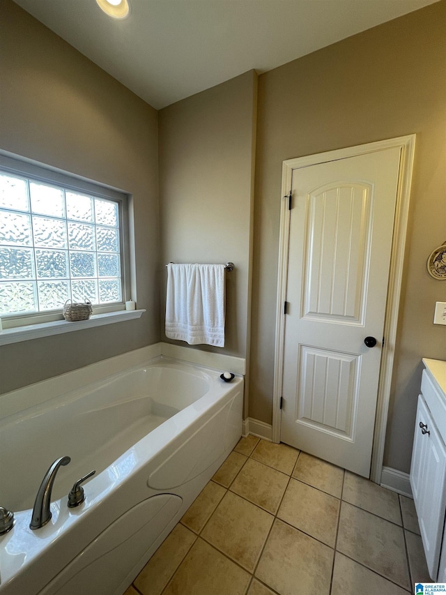
[(224, 264), (168, 264), (166, 336), (224, 347)]

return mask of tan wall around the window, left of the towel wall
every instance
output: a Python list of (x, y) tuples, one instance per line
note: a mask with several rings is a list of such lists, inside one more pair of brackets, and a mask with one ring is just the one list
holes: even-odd
[(160, 340), (157, 112), (10, 0), (0, 6), (0, 148), (133, 196), (139, 320), (0, 347), (0, 391)]

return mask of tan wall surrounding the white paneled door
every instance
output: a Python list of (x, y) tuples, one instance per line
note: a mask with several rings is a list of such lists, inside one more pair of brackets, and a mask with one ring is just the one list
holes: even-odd
[(271, 423), (282, 161), (416, 133), (406, 267), (385, 465), (408, 472), (422, 356), (446, 357), (434, 326), (446, 283), (426, 259), (446, 240), (446, 2), (259, 77), (249, 416)]

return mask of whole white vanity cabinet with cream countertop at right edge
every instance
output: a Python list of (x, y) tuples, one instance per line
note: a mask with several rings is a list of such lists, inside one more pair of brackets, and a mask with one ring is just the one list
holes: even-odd
[(429, 575), (446, 582), (446, 362), (423, 363), (410, 485)]

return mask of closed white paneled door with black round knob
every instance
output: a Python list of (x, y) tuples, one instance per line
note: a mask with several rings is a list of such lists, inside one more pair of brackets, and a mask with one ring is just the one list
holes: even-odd
[(280, 439), (366, 477), (399, 160), (394, 147), (292, 176)]

